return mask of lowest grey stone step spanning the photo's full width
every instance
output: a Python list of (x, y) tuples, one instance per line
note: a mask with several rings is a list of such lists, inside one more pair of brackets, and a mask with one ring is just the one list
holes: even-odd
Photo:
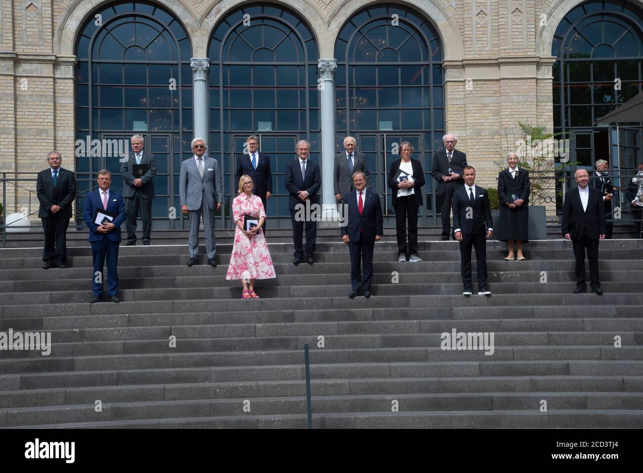
[[(319, 414), (388, 413), (397, 405), (401, 413), (438, 413), (444, 411), (529, 411), (547, 400), (548, 412), (561, 410), (639, 410), (643, 393), (457, 393), (399, 394), (362, 396), (312, 396), (311, 408)], [(245, 411), (244, 411), (245, 409)], [(278, 416), (302, 414), (306, 399), (251, 398), (200, 399), (102, 403), (96, 411), (91, 405), (55, 405), (0, 409), (0, 427), (123, 420), (206, 418), (215, 416)]]

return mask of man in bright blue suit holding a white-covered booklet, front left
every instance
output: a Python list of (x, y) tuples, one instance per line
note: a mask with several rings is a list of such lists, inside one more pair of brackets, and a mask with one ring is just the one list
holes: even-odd
[[(94, 259), (94, 274), (92, 277), (91, 303), (100, 302), (103, 297), (103, 266), (107, 258), (107, 294), (110, 302), (118, 302), (118, 244), (121, 241), (120, 226), (125, 221), (125, 201), (115, 190), (109, 190), (112, 174), (103, 169), (98, 172), (98, 190), (85, 196), (82, 218), (89, 227), (91, 255)], [(112, 214), (113, 221), (102, 225), (95, 223), (96, 210), (105, 210)], [(98, 282), (100, 281), (100, 282)]]

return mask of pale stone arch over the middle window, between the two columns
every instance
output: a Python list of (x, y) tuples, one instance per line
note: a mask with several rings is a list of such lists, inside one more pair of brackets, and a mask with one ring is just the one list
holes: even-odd
[[(210, 7), (210, 10), (208, 10), (207, 14), (204, 16), (202, 33), (205, 38), (205, 44), (203, 46), (203, 50), (198, 51), (199, 55), (201, 55), (201, 57), (208, 57), (210, 38), (212, 37), (212, 33), (214, 33), (215, 27), (219, 25), (222, 19), (229, 15), (233, 10), (239, 8), (239, 6), (251, 5), (252, 3), (258, 3), (258, 1), (259, 0), (222, 0), (216, 5)], [(326, 25), (323, 19), (323, 13), (316, 5), (312, 5), (307, 0), (300, 0), (298, 8), (293, 8), (293, 3), (288, 3), (287, 1), (282, 0), (270, 0), (269, 3), (282, 6), (294, 15), (301, 17), (301, 19), (306, 22), (309, 30), (311, 30), (312, 37), (317, 45), (319, 56), (325, 57), (323, 55), (324, 51), (321, 50), (321, 38), (326, 36)], [(197, 55), (196, 50), (195, 55)]]

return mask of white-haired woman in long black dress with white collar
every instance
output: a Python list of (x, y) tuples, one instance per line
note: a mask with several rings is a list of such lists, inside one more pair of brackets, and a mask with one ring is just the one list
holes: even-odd
[(529, 241), (529, 174), (518, 167), (516, 153), (507, 154), (509, 167), (498, 174), (498, 199), (500, 199), (500, 225), (496, 227), (496, 237), (506, 241), (509, 254), (506, 260), (514, 259), (514, 241), (518, 260), (526, 258), (522, 244)]

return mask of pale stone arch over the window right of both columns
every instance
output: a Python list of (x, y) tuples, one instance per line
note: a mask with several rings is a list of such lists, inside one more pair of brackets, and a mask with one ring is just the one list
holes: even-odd
[(464, 57), (464, 44), (462, 43), (460, 28), (455, 23), (453, 16), (437, 0), (415, 0), (413, 2), (399, 0), (342, 0), (329, 14), (326, 40), (330, 45), (327, 46), (329, 48), (327, 57), (334, 56), (337, 36), (350, 17), (366, 6), (376, 6), (379, 3), (405, 5), (424, 15), (425, 19), (433, 24), (440, 37), (442, 48), (444, 48), (444, 60), (462, 60)]

